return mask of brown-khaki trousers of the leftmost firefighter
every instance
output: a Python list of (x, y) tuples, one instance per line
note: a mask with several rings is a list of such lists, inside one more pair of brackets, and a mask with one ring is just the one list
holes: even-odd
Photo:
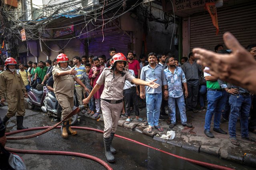
[[(6, 117), (11, 118), (14, 117), (16, 112), (17, 116), (24, 116), (25, 115), (25, 103), (23, 92), (21, 90), (13, 91), (14, 99), (7, 100), (8, 104), (8, 111), (6, 113)], [(8, 95), (8, 94), (6, 94)]]

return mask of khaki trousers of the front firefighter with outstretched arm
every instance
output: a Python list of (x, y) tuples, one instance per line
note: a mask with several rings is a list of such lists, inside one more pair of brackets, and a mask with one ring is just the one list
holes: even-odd
[(117, 130), (117, 125), (121, 110), (123, 109), (123, 102), (111, 104), (107, 101), (101, 100), (101, 111), (104, 119), (104, 133), (103, 137), (108, 138), (111, 132)]

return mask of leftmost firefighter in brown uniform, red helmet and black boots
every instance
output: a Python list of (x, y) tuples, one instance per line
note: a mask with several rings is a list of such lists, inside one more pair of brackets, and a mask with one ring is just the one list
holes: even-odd
[(17, 61), (9, 57), (5, 60), (4, 65), (6, 66), (6, 70), (0, 73), (0, 97), (1, 103), (4, 103), (4, 96), (6, 94), (8, 111), (3, 119), (3, 123), (5, 125), (6, 122), (17, 113), (17, 130), (26, 129), (27, 127), (23, 127), (25, 115), (24, 96), (28, 97), (28, 93), (21, 75), (18, 70), (15, 69)]

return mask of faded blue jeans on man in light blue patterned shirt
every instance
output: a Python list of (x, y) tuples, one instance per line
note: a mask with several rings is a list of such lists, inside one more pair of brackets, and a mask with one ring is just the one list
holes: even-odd
[(171, 111), (171, 113), (169, 113), (169, 115), (171, 117), (171, 123), (174, 123), (174, 124), (176, 123), (175, 101), (177, 101), (177, 105), (179, 107), (181, 124), (185, 125), (187, 123), (187, 116), (186, 116), (185, 100), (184, 100), (183, 95), (181, 97), (177, 97), (177, 98), (168, 96), (168, 107)]

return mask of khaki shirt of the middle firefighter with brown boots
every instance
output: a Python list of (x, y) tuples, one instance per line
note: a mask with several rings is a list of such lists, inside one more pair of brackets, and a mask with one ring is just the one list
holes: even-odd
[[(71, 67), (69, 67), (71, 69)], [(58, 71), (65, 71), (60, 66), (56, 66), (52, 69), (52, 77), (54, 80), (53, 89), (57, 96), (59, 93), (66, 95), (67, 97), (74, 96), (75, 80), (74, 75), (57, 76)]]

